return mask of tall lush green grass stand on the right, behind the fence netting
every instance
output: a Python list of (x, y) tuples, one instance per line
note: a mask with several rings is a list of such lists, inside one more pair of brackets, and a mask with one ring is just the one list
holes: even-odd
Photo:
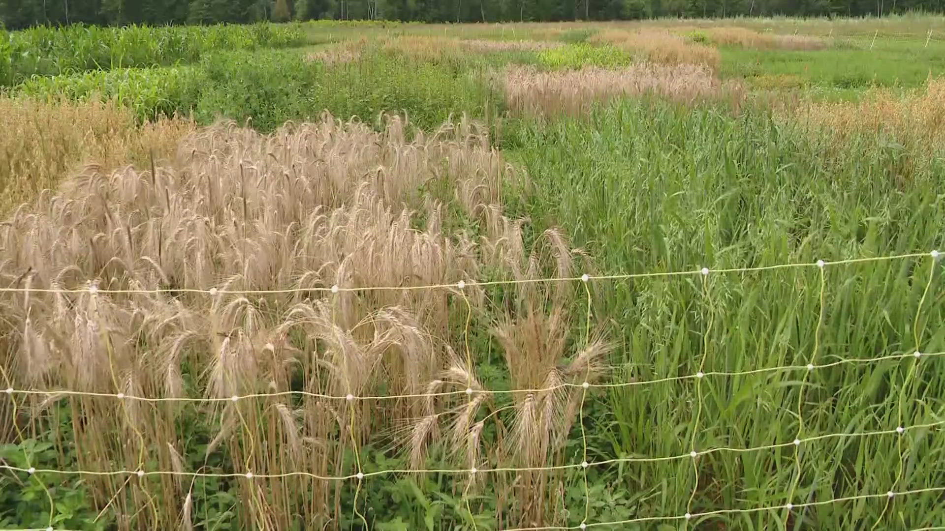
[[(534, 180), (534, 196), (519, 206), (534, 230), (563, 228), (606, 273), (810, 264), (942, 248), (940, 164), (903, 189), (888, 179), (883, 150), (868, 140), (851, 146), (856, 156), (829, 161), (805, 138), (762, 112), (734, 117), (635, 101), (587, 120), (524, 125), (509, 133), (507, 148)], [(710, 376), (700, 384), (691, 378), (699, 370), (910, 353), (917, 313), (919, 349), (945, 351), (941, 262), (919, 311), (930, 267), (930, 257), (827, 266), (818, 340), (816, 267), (593, 283), (594, 315), (621, 345), (612, 360), (622, 371), (617, 381), (690, 377), (595, 397), (589, 409), (595, 456), (685, 455), (693, 443), (697, 450), (764, 447), (790, 443), (798, 433), (853, 434), (941, 419), (939, 359), (922, 361), (908, 380), (912, 358), (818, 368), (803, 387), (806, 370), (797, 369)], [(690, 507), (696, 480), (688, 457), (626, 464), (606, 481), (611, 493), (636, 500), (635, 517), (783, 505), (795, 481), (795, 504), (883, 493), (894, 484), (942, 485), (945, 471), (923, 465), (938, 458), (941, 440), (923, 429), (907, 434), (898, 484), (900, 449), (890, 435), (804, 443), (799, 478), (790, 444), (700, 457)], [(861, 528), (879, 518), (884, 501), (817, 506), (797, 523)], [(895, 520), (905, 528), (927, 525), (943, 505), (937, 493), (912, 496), (895, 504)], [(783, 527), (783, 516), (719, 515), (705, 524)], [(889, 528), (892, 517), (886, 519)]]

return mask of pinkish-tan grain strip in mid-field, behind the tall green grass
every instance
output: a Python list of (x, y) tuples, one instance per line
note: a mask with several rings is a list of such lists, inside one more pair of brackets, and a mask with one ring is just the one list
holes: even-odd
[(530, 115), (579, 114), (595, 103), (627, 95), (653, 94), (692, 103), (740, 101), (742, 94), (738, 86), (719, 81), (708, 68), (696, 64), (633, 63), (619, 70), (592, 67), (552, 72), (514, 67), (507, 70), (505, 86), (509, 109)]

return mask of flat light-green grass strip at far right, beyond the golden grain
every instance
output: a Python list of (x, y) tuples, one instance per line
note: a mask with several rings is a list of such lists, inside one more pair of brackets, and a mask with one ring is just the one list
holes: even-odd
[(869, 86), (916, 87), (931, 75), (945, 73), (945, 43), (928, 48), (919, 39), (858, 39), (825, 50), (757, 50), (722, 48), (721, 76), (745, 78), (795, 77), (804, 86), (864, 89)]

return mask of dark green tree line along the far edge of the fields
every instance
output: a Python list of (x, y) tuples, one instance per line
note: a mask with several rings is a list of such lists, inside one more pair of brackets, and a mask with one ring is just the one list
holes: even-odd
[(940, 13), (945, 0), (0, 0), (0, 23), (18, 29), (292, 19), (558, 22), (663, 16), (882, 16), (910, 10)]

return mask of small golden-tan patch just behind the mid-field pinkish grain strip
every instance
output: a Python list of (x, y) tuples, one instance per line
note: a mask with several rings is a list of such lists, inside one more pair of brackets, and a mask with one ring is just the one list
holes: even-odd
[(594, 34), (589, 41), (615, 44), (660, 64), (701, 64), (714, 70), (721, 60), (718, 50), (712, 46), (690, 43), (665, 29), (606, 29)]

